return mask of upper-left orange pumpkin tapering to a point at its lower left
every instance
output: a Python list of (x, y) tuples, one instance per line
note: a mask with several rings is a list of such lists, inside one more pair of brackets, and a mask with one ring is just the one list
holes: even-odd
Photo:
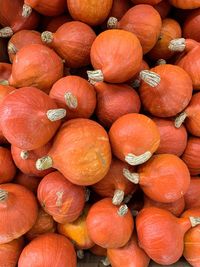
[(14, 57), (8, 81), (9, 85), (17, 88), (34, 86), (48, 92), (62, 75), (63, 62), (52, 49), (30, 44), (21, 48)]

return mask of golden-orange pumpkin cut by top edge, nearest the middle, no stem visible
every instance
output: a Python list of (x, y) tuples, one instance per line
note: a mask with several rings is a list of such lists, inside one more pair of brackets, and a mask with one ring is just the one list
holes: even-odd
[(70, 15), (91, 26), (100, 25), (107, 18), (113, 0), (67, 0)]

